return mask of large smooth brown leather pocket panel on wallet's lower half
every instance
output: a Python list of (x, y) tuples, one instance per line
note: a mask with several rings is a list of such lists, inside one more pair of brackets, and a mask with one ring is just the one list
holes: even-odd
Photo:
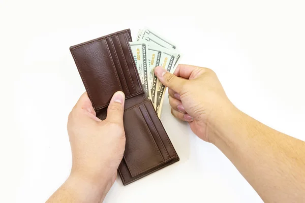
[(139, 105), (124, 112), (124, 128), (126, 134), (124, 161), (132, 177), (165, 162)]

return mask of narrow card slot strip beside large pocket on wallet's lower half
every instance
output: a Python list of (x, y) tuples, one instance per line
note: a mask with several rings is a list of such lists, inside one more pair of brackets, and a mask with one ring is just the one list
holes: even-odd
[[(150, 100), (145, 101), (145, 102), (151, 103)], [(150, 116), (147, 112), (147, 109), (146, 109), (145, 105), (141, 104), (141, 105), (139, 105), (139, 108), (142, 112), (142, 115), (143, 115), (143, 117), (146, 121), (146, 124), (147, 124), (151, 134), (153, 135), (153, 137), (156, 141), (156, 144), (157, 144), (159, 150), (161, 151), (161, 154), (162, 154), (163, 158), (165, 159), (165, 161), (167, 161), (168, 159), (170, 159), (170, 156), (169, 156), (169, 154), (168, 154), (168, 152), (167, 152), (167, 150), (166, 150), (166, 148), (165, 148), (165, 146), (164, 146), (164, 144), (163, 144), (163, 142), (162, 142), (162, 140), (161, 140), (161, 138), (160, 138), (160, 136), (157, 132), (157, 129), (156, 129), (153, 121), (151, 121), (151, 118), (150, 118)]]

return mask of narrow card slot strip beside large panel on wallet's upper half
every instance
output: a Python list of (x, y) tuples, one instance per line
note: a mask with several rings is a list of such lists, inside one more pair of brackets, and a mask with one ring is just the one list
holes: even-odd
[(114, 62), (114, 66), (116, 68), (116, 73), (118, 74), (118, 79), (120, 81), (121, 87), (123, 88), (125, 95), (129, 96), (130, 95), (130, 91), (129, 91), (129, 88), (127, 87), (125, 76), (123, 74), (123, 70), (122, 70), (120, 62), (118, 60), (118, 57), (117, 57), (117, 54), (116, 54), (116, 51), (115, 51), (112, 39), (111, 38), (107, 38), (106, 42), (108, 44), (108, 47), (109, 47), (109, 50), (110, 50), (110, 55), (112, 56), (112, 60)]

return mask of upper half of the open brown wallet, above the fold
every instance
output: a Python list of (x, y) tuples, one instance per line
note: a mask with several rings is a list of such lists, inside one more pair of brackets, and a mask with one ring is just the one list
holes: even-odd
[(96, 111), (107, 107), (118, 90), (126, 98), (143, 94), (130, 41), (130, 29), (126, 29), (70, 47)]

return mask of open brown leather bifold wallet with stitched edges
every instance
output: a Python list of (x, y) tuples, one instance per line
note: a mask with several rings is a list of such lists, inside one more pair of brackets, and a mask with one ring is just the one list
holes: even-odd
[(114, 92), (125, 93), (126, 147), (118, 167), (124, 185), (179, 161), (153, 104), (145, 97), (131, 41), (126, 29), (70, 47), (98, 118), (106, 118)]

